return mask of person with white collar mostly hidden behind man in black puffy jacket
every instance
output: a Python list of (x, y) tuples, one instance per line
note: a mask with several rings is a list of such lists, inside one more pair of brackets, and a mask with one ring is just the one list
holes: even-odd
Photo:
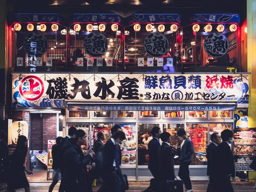
[[(60, 170), (61, 170), (61, 178), (64, 175), (64, 166), (63, 166), (64, 153), (65, 153), (67, 147), (70, 144), (69, 139), (73, 138), (75, 134), (76, 134), (76, 128), (75, 127), (70, 127), (68, 129), (68, 135), (65, 138), (63, 138), (61, 140), (61, 143), (60, 143), (59, 167), (60, 167)], [(61, 181), (61, 184), (60, 184), (60, 187), (59, 187), (59, 192), (64, 192), (64, 182), (62, 182), (62, 181)]]

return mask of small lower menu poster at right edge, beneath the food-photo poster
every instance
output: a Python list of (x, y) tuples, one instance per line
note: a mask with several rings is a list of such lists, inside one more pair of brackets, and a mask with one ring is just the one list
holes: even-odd
[(250, 164), (253, 162), (253, 158), (255, 156), (238, 156), (235, 155), (235, 162), (236, 162), (236, 172), (239, 171), (254, 171), (253, 169), (250, 168)]

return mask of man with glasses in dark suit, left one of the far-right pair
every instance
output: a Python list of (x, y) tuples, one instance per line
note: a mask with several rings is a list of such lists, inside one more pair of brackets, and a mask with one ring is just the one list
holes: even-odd
[(216, 157), (216, 148), (219, 144), (221, 144), (221, 136), (218, 133), (213, 133), (211, 135), (212, 143), (207, 147), (207, 175), (209, 175), (209, 182), (215, 183), (216, 175), (215, 175), (215, 157)]

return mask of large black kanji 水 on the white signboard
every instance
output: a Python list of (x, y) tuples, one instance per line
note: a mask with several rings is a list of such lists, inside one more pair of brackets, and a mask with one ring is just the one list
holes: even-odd
[[(110, 80), (110, 83), (107, 84), (107, 81), (105, 78), (101, 78), (102, 82), (99, 81), (97, 83), (95, 83), (95, 85), (97, 86), (97, 89), (95, 91), (95, 93), (93, 93), (94, 96), (99, 97), (101, 99), (106, 99), (107, 97), (107, 92), (109, 95), (111, 95), (111, 98), (113, 98), (115, 96), (115, 93), (113, 93), (110, 88), (113, 87), (115, 84), (112, 80)], [(102, 92), (102, 96), (99, 96), (99, 93)]]

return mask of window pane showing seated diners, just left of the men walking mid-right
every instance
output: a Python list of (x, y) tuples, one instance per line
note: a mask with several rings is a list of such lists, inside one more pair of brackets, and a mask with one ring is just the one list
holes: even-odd
[(148, 143), (153, 139), (151, 129), (159, 124), (138, 124), (138, 165), (148, 165)]

